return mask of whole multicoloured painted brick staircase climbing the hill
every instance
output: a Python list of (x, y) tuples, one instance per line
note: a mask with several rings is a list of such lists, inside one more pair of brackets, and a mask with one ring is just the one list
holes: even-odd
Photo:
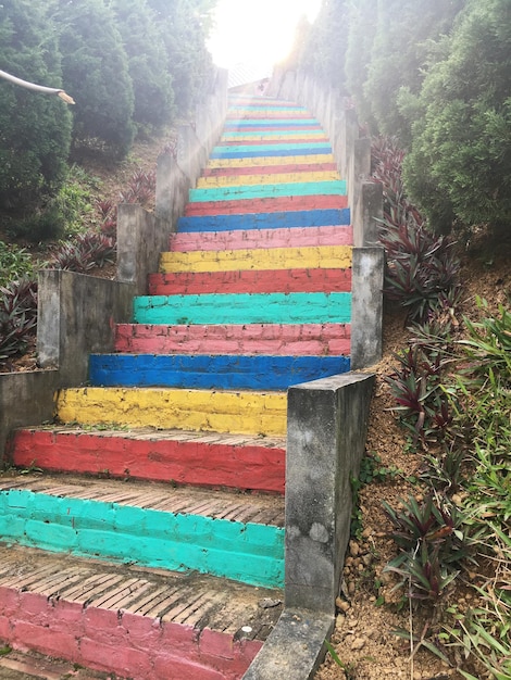
[(245, 673), (283, 607), (286, 390), (349, 370), (352, 235), (317, 121), (233, 98), (189, 199), (115, 353), (59, 425), (13, 435), (24, 474), (0, 480), (0, 638), (144, 680)]

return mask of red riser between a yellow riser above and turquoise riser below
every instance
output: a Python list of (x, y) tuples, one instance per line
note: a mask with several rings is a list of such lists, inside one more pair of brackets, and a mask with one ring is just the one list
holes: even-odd
[(351, 269), (242, 269), (150, 274), (150, 295), (350, 292)]

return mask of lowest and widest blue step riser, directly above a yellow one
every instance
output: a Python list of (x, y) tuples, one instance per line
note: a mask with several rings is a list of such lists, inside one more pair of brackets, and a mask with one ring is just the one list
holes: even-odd
[(287, 390), (349, 370), (347, 356), (92, 354), (89, 380), (102, 387)]

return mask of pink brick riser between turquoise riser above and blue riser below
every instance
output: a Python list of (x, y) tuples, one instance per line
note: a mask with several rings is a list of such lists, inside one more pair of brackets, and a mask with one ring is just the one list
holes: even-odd
[(348, 355), (350, 330), (348, 324), (120, 324), (115, 350), (145, 354)]

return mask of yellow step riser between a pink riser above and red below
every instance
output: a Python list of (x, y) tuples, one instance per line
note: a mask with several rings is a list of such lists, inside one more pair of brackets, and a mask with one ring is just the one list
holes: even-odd
[(165, 252), (160, 256), (160, 272), (347, 269), (351, 266), (351, 245)]

